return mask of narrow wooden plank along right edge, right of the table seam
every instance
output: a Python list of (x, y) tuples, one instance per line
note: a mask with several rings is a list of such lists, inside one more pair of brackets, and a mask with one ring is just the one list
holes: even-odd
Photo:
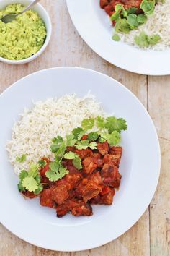
[(149, 77), (148, 110), (161, 144), (161, 176), (151, 202), (151, 256), (170, 255), (170, 77)]

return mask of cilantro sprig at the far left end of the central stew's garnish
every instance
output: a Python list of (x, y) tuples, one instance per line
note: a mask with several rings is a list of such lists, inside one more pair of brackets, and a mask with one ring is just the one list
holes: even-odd
[(28, 171), (22, 170), (19, 174), (19, 191), (41, 192), (40, 175), (38, 172), (40, 165), (31, 163)]

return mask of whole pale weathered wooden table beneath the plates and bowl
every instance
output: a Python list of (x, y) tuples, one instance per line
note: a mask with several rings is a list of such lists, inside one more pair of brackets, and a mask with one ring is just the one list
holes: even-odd
[(114, 77), (137, 95), (156, 125), (161, 143), (161, 176), (151, 205), (138, 223), (109, 244), (84, 252), (53, 252), (23, 242), (0, 224), (0, 255), (170, 256), (170, 77), (147, 77), (109, 64), (80, 38), (68, 15), (66, 1), (42, 0), (42, 4), (53, 23), (50, 45), (30, 64), (17, 67), (1, 63), (0, 92), (19, 78), (49, 67), (87, 67)]

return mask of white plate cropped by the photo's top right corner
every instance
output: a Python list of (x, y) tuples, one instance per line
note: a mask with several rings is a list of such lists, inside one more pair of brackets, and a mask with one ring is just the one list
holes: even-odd
[(112, 40), (112, 26), (99, 0), (66, 0), (68, 11), (81, 38), (103, 59), (130, 72), (170, 74), (170, 49), (142, 50)]

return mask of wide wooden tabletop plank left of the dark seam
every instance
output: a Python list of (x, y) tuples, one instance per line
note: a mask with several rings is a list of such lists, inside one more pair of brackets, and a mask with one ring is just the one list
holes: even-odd
[[(97, 54), (94, 54), (73, 27), (66, 9), (66, 1), (43, 0), (42, 4), (48, 9), (53, 21), (53, 36), (50, 40), (50, 45), (40, 58), (32, 61), (30, 64), (24, 64), (18, 67), (0, 64), (0, 91), (3, 91), (19, 78), (40, 69), (55, 66), (78, 66), (95, 69), (114, 77), (132, 90), (140, 101), (147, 106), (146, 76), (133, 74), (114, 67), (97, 56)], [(146, 210), (146, 213), (140, 218), (138, 223), (119, 239), (97, 249), (91, 249), (85, 252), (62, 253), (40, 249), (27, 244), (27, 242), (23, 242), (7, 231), (4, 226), (0, 226), (0, 255), (149, 256), (149, 240), (149, 213)]]

